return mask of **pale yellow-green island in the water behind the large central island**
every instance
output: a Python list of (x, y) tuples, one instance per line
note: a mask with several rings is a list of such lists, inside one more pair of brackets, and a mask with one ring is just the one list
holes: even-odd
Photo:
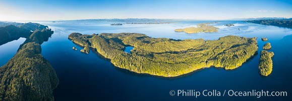
[(197, 27), (188, 27), (188, 28), (184, 28), (184, 29), (176, 29), (174, 31), (176, 32), (186, 32), (188, 34), (192, 34), (192, 33), (199, 33), (199, 32), (218, 32), (217, 27), (211, 26), (209, 25), (210, 23), (201, 23), (198, 24)]

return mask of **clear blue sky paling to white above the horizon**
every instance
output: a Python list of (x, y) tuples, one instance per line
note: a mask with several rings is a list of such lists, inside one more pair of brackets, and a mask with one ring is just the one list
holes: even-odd
[(291, 0), (0, 0), (0, 21), (292, 18)]

